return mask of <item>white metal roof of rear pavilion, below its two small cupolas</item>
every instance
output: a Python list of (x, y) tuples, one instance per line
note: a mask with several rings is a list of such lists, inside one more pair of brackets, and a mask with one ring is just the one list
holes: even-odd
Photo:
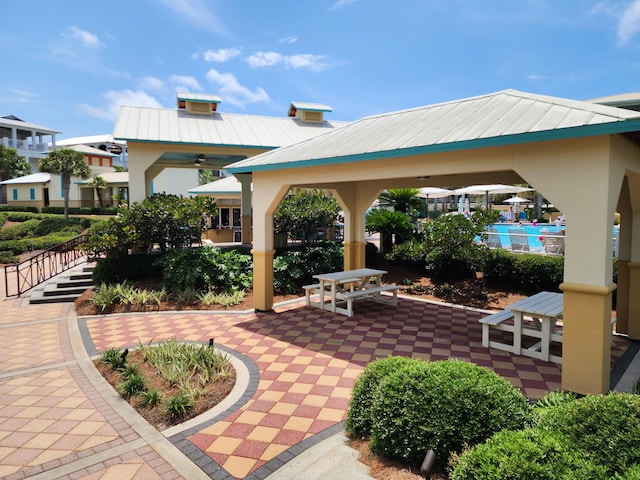
[(122, 107), (113, 137), (135, 142), (277, 148), (334, 131), (348, 122), (305, 123), (233, 113), (193, 115), (176, 109)]

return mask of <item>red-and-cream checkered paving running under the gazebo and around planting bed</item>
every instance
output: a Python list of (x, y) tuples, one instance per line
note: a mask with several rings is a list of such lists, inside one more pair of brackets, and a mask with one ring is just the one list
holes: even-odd
[[(98, 351), (177, 337), (238, 351), (258, 367), (253, 397), (190, 435), (192, 444), (235, 478), (346, 418), (351, 387), (365, 365), (388, 355), (457, 358), (492, 368), (530, 398), (560, 388), (560, 366), (481, 345), (483, 313), (401, 298), (397, 308), (358, 305), (354, 317), (306, 308), (275, 312), (184, 312), (91, 318)], [(618, 341), (613, 360), (626, 344)]]

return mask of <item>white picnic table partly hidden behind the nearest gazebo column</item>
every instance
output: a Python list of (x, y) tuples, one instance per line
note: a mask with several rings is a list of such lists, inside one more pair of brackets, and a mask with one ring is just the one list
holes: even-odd
[[(538, 292), (535, 295), (512, 303), (503, 312), (480, 320), (483, 323), (482, 344), (518, 355), (539, 358), (547, 362), (562, 363), (562, 357), (551, 355), (552, 342), (562, 343), (562, 332), (556, 332), (556, 323), (562, 318), (563, 297), (556, 292)], [(526, 324), (524, 319), (532, 323)], [(513, 325), (504, 324), (513, 320)], [(513, 343), (506, 344), (489, 340), (489, 328), (513, 332)], [(522, 347), (523, 337), (539, 339), (530, 347)]]

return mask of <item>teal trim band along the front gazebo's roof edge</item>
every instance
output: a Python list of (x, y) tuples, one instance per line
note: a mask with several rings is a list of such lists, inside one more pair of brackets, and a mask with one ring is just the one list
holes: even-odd
[[(246, 167), (228, 166), (225, 170), (229, 173), (248, 173), (256, 171), (284, 170), (298, 167), (316, 167), (332, 164), (345, 164), (363, 162), (368, 160), (385, 160), (388, 158), (402, 158), (430, 153), (454, 152), (471, 150), (476, 148), (503, 147), (522, 143), (544, 142), (551, 140), (566, 140), (570, 138), (594, 137), (598, 135), (615, 135), (640, 131), (640, 119), (626, 120), (624, 122), (609, 122), (598, 125), (581, 125), (559, 130), (545, 130), (541, 132), (526, 132), (514, 135), (501, 135), (491, 138), (477, 138), (459, 142), (439, 143), (423, 145), (419, 147), (399, 148), (397, 150), (385, 150), (381, 152), (357, 153), (341, 157), (314, 158), (287, 163), (270, 163), (265, 165), (248, 165)], [(251, 161), (249, 159), (248, 161)]]

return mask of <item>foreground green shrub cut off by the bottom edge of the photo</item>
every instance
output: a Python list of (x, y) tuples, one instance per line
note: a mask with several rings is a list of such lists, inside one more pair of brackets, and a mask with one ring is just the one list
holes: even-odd
[(451, 480), (605, 480), (561, 435), (528, 428), (502, 431), (452, 461)]

